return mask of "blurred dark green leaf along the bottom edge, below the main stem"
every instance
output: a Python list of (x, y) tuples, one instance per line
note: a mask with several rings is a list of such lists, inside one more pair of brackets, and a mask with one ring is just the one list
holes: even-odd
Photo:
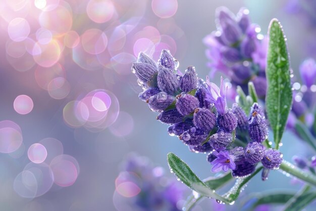
[[(251, 196), (250, 200), (245, 203), (242, 210), (254, 210), (257, 206), (262, 204), (285, 204), (293, 196), (293, 193), (270, 193), (258, 196)], [(249, 202), (252, 200), (255, 201), (249, 204)]]

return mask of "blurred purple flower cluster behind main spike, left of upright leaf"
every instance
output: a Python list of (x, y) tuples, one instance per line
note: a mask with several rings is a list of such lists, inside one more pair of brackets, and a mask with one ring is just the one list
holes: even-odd
[[(252, 81), (259, 97), (266, 95), (266, 57), (268, 39), (260, 27), (252, 24), (249, 10), (242, 8), (237, 16), (225, 7), (217, 9), (217, 30), (204, 38), (211, 75), (224, 73), (234, 86), (246, 88)], [(246, 91), (246, 89), (243, 89)]]

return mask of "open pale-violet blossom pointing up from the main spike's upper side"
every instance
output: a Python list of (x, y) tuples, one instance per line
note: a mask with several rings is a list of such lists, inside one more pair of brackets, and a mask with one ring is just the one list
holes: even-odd
[(224, 79), (221, 76), (221, 86), (220, 88), (213, 82), (209, 81), (208, 76), (206, 76), (207, 93), (206, 99), (214, 103), (219, 114), (224, 115), (227, 111), (226, 104), (226, 93), (228, 87), (224, 88)]

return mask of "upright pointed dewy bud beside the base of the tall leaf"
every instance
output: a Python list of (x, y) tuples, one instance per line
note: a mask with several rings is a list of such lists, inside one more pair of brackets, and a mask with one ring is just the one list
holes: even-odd
[(252, 141), (261, 143), (268, 138), (268, 126), (258, 112), (254, 111), (251, 114), (248, 124), (248, 132)]

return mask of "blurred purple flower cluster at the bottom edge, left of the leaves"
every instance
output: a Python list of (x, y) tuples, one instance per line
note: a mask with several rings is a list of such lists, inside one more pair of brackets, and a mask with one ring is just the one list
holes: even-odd
[[(116, 179), (116, 191), (127, 197), (133, 210), (179, 211), (185, 186), (165, 176), (164, 168), (148, 158), (131, 154)], [(120, 203), (120, 202), (118, 202)]]

